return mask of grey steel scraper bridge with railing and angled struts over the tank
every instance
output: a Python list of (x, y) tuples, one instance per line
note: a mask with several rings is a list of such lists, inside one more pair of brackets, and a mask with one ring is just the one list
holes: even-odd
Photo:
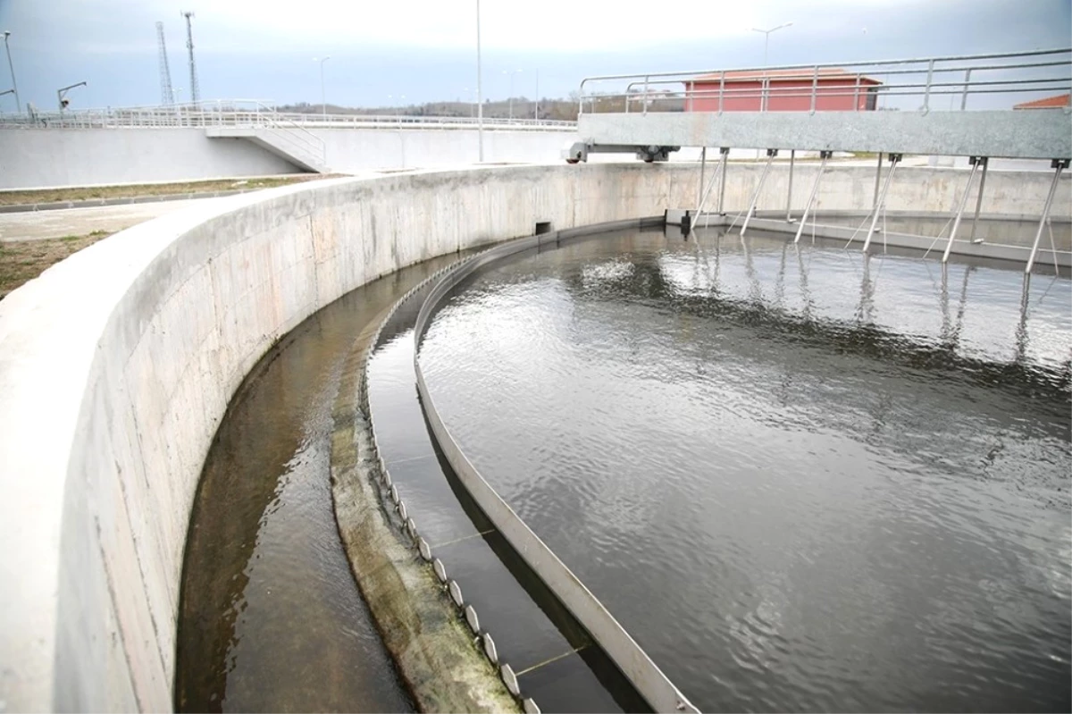
[[(795, 226), (799, 241), (815, 208), (827, 162), (835, 152), (875, 153), (874, 206), (849, 236), (851, 243), (869, 222), (861, 235), (866, 252), (879, 230), (885, 197), (904, 154), (967, 157), (970, 174), (951, 207), (943, 263), (954, 250), (982, 251), (955, 239), (972, 194), (972, 224), (978, 222), (991, 159), (1047, 160), (1054, 175), (1034, 242), (1025, 254), (1025, 271), (1030, 273), (1047, 228), (1053, 242), (1049, 213), (1072, 158), (1070, 89), (1072, 48), (587, 77), (580, 87), (579, 140), (564, 151), (564, 158), (577, 163), (586, 161), (590, 153), (636, 153), (654, 162), (666, 161), (682, 147), (700, 148), (697, 206), (676, 211), (672, 220), (687, 230), (705, 211), (708, 219), (714, 214), (716, 224), (730, 227), (743, 217), (740, 230), (744, 235), (756, 218), (778, 152), (790, 154), (790, 197), (795, 152), (818, 153), (819, 170)], [(1032, 105), (1043, 98), (1047, 101)], [(1044, 108), (1036, 108), (1040, 104)], [(715, 170), (704, 181), (708, 147), (717, 147), (719, 152)], [(747, 210), (730, 223), (725, 220), (724, 197), (727, 162), (734, 148), (765, 150), (768, 159)], [(889, 161), (884, 179), (883, 155)], [(1053, 265), (1062, 262), (1054, 248)]]

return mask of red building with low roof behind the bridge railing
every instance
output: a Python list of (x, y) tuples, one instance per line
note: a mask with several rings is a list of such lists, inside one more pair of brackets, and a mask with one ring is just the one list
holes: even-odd
[(813, 86), (816, 111), (865, 111), (876, 108), (882, 83), (833, 68), (818, 77), (807, 69), (719, 72), (685, 83), (685, 110), (808, 111)]

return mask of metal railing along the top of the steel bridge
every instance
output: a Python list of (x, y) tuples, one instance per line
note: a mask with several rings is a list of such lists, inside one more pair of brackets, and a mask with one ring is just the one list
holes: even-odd
[(1059, 48), (586, 77), (579, 114), (1009, 109), (1070, 90), (1072, 48)]

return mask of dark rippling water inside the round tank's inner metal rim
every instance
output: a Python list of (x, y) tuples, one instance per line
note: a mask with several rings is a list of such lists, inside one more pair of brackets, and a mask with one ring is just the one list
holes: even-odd
[(1072, 281), (620, 233), (460, 287), (421, 356), (701, 708), (1068, 711)]

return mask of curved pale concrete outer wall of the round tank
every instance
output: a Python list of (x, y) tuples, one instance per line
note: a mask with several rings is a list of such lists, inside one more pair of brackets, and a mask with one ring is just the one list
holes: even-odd
[[(948, 209), (963, 174), (915, 170), (891, 208)], [(731, 167), (729, 206), (757, 174)], [(835, 178), (825, 208), (869, 205), (872, 170)], [(691, 166), (597, 164), (286, 187), (124, 230), (0, 301), (0, 709), (170, 708), (202, 464), (235, 389), (298, 323), (377, 276), (537, 222), (691, 206), (697, 179)], [(766, 207), (784, 205), (783, 179)], [(1037, 212), (1032, 181), (987, 188)]]

